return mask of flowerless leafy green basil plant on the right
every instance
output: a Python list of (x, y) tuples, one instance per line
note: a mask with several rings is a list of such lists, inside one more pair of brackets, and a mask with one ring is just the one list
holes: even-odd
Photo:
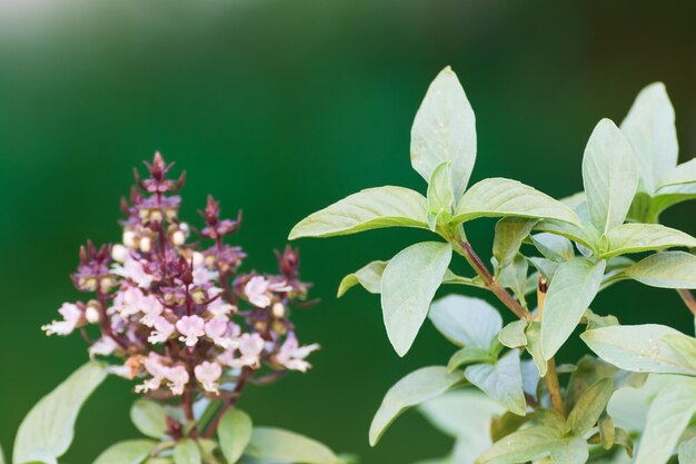
[[(414, 227), (432, 239), (348, 275), (380, 297), (387, 336), (408, 353), (426, 318), (455, 345), (385, 395), (369, 428), (376, 445), (417, 406), (455, 440), (429, 464), (696, 463), (696, 339), (674, 328), (624, 326), (591, 310), (622, 280), (677, 289), (696, 314), (696, 238), (660, 213), (696, 198), (696, 160), (677, 166), (674, 110), (662, 83), (645, 88), (620, 126), (601, 119), (585, 148), (585, 191), (560, 200), (517, 180), (470, 182), (475, 115), (449, 69), (430, 85), (411, 129), (410, 161), (425, 195), (369, 188), (295, 226), (290, 239)], [(468, 223), (499, 218), (490, 263)], [(667, 250), (680, 248), (682, 250)], [(456, 275), (464, 258), (471, 274)], [(460, 293), (432, 300), (440, 286)], [(493, 294), (497, 305), (479, 296)], [(504, 324), (505, 307), (515, 320)], [(591, 354), (556, 362), (580, 326)], [(425, 464), (421, 463), (421, 464)]]

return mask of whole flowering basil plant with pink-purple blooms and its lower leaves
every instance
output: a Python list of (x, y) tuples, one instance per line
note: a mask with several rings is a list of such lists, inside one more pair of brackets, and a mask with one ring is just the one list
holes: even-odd
[[(222, 219), (208, 198), (205, 226), (179, 218), (185, 175), (159, 154), (135, 170), (130, 201), (122, 200), (121, 244), (80, 248), (74, 286), (86, 302), (66, 303), (47, 335), (78, 332), (90, 363), (28, 414), (19, 428), (14, 464), (56, 463), (72, 441), (77, 414), (107, 374), (135, 381), (142, 395), (131, 409), (148, 438), (118, 443), (96, 464), (221, 464), (260, 462), (335, 464), (339, 458), (305, 436), (253, 427), (235, 407), (249, 384), (268, 384), (310, 367), (318, 345), (300, 346), (290, 307), (306, 306), (299, 254), (277, 253), (278, 274), (240, 273), (246, 257), (226, 239), (240, 226)], [(193, 237), (196, 237), (193, 239)]]

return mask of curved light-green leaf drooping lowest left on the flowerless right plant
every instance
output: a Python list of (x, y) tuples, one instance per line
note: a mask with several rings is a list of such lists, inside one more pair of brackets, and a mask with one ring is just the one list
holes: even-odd
[(448, 373), (446, 367), (422, 367), (397, 382), (385, 395), (370, 425), (370, 445), (375, 446), (385, 431), (406, 409), (432, 399), (461, 384), (461, 372)]

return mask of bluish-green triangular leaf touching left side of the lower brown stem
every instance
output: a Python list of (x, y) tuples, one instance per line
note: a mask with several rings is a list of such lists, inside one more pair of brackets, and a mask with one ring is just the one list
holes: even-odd
[(520, 416), (526, 414), (527, 403), (517, 349), (510, 349), (495, 364), (468, 366), (464, 376), (506, 409)]

